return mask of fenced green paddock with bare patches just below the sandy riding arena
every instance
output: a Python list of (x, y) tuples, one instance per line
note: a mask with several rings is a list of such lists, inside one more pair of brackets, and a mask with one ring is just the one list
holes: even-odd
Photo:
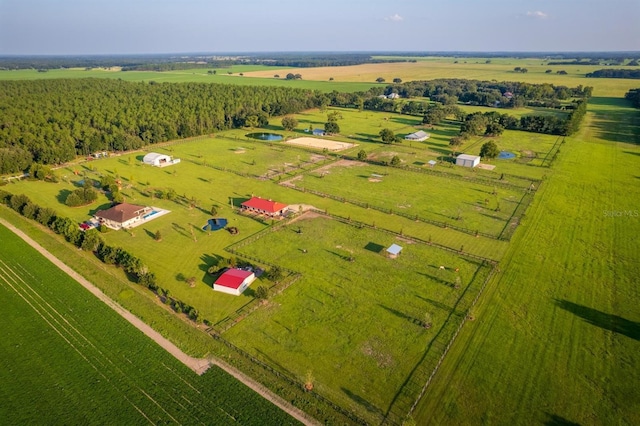
[(338, 164), (307, 174), (293, 183), (297, 187), (496, 237), (524, 195), (524, 190), (494, 188), (475, 182), (461, 184), (459, 179), (365, 163)]

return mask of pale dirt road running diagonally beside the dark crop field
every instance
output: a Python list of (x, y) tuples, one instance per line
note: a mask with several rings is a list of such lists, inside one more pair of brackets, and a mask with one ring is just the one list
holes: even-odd
[(60, 259), (58, 259), (53, 254), (51, 254), (47, 249), (42, 247), (40, 244), (38, 244), (36, 241), (34, 241), (27, 234), (25, 234), (24, 232), (22, 232), (21, 230), (19, 230), (18, 228), (16, 228), (12, 224), (10, 224), (9, 222), (7, 222), (6, 220), (1, 219), (1, 218), (0, 218), (0, 225), (5, 226), (7, 229), (12, 231), (14, 234), (16, 234), (17, 236), (22, 238), (27, 244), (29, 244), (31, 247), (36, 249), (40, 254), (42, 254), (44, 257), (46, 257), (49, 261), (51, 261), (51, 263), (53, 263), (55, 266), (60, 268), (63, 272), (65, 272), (71, 278), (76, 280), (81, 286), (83, 286), (89, 292), (91, 292), (91, 294), (96, 296), (98, 299), (100, 299), (102, 302), (104, 302), (107, 306), (109, 306), (111, 309), (116, 311), (120, 316), (122, 316), (129, 323), (131, 323), (131, 325), (133, 325), (138, 330), (143, 332), (146, 336), (151, 338), (154, 342), (156, 342), (164, 350), (169, 352), (178, 361), (180, 361), (181, 363), (183, 363), (184, 365), (189, 367), (191, 370), (193, 370), (196, 374), (198, 374), (198, 375), (204, 374), (209, 369), (209, 367), (211, 365), (215, 365), (215, 366), (221, 368), (222, 370), (224, 370), (225, 372), (227, 372), (228, 374), (230, 374), (233, 377), (235, 377), (237, 380), (242, 382), (245, 386), (249, 387), (250, 389), (252, 389), (256, 393), (258, 393), (260, 396), (262, 396), (266, 400), (270, 401), (271, 403), (273, 403), (274, 405), (279, 407), (281, 410), (283, 410), (284, 412), (286, 412), (287, 414), (289, 414), (291, 417), (293, 417), (294, 419), (298, 420), (299, 422), (301, 422), (301, 423), (303, 423), (305, 425), (319, 425), (320, 424), (315, 419), (312, 419), (310, 416), (308, 416), (306, 413), (304, 413), (302, 410), (299, 410), (299, 409), (295, 408), (293, 405), (289, 404), (287, 401), (282, 399), (280, 396), (278, 396), (275, 393), (271, 392), (265, 386), (263, 386), (260, 383), (256, 382), (255, 380), (253, 380), (249, 376), (245, 375), (244, 373), (242, 373), (238, 369), (236, 369), (236, 368), (232, 367), (231, 365), (227, 364), (226, 362), (224, 362), (222, 360), (219, 360), (219, 359), (216, 359), (214, 357), (210, 357), (209, 359), (193, 358), (193, 357), (185, 354), (184, 352), (182, 352), (180, 350), (180, 348), (178, 348), (176, 345), (174, 345), (169, 340), (164, 338), (160, 333), (155, 331), (153, 328), (151, 328), (150, 326), (145, 324), (140, 318), (136, 317), (131, 312), (127, 311), (122, 306), (118, 305), (116, 302), (111, 300), (98, 287), (93, 285), (91, 282), (89, 282), (86, 278), (84, 278), (83, 276), (78, 274), (73, 269), (69, 268)]

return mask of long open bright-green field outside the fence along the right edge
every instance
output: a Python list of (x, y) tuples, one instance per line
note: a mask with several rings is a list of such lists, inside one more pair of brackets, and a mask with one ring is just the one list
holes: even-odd
[(639, 125), (592, 100), (419, 424), (640, 423)]

